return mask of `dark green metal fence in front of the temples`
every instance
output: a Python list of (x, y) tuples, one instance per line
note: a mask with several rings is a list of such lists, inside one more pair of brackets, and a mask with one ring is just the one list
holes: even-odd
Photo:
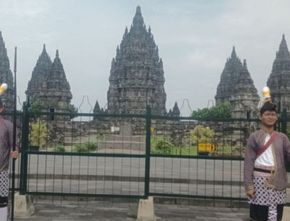
[[(243, 154), (257, 119), (199, 121), (153, 116), (150, 109), (144, 115), (31, 113), (27, 107), (18, 116), (21, 194), (245, 201)], [(286, 115), (279, 122), (287, 133)]]

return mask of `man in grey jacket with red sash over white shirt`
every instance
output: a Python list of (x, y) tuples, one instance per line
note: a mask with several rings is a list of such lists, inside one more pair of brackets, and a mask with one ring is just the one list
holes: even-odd
[(288, 137), (274, 130), (276, 105), (267, 100), (260, 106), (261, 129), (248, 139), (244, 161), (244, 182), (252, 221), (280, 221), (286, 199), (290, 160)]

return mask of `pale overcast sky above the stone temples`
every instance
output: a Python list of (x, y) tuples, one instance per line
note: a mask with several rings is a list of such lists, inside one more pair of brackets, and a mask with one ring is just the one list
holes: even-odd
[(233, 46), (260, 92), (283, 33), (290, 42), (289, 0), (0, 0), (11, 67), (18, 47), (21, 102), (45, 43), (52, 60), (59, 50), (72, 103), (106, 107), (111, 61), (138, 5), (163, 60), (167, 110), (211, 104)]

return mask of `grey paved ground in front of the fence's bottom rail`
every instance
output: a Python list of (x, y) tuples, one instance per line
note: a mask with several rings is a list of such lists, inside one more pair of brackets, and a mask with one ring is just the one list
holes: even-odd
[[(133, 221), (136, 220), (136, 202), (108, 201), (38, 201), (35, 214), (15, 221)], [(248, 209), (206, 207), (193, 205), (155, 203), (157, 221), (247, 221)], [(283, 221), (290, 220), (290, 208), (286, 208)]]

